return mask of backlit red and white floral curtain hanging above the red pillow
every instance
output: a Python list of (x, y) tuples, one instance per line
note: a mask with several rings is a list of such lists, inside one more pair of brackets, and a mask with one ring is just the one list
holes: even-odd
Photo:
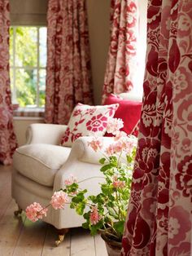
[(137, 0), (111, 0), (111, 45), (103, 86), (103, 102), (111, 93), (132, 90), (137, 76)]

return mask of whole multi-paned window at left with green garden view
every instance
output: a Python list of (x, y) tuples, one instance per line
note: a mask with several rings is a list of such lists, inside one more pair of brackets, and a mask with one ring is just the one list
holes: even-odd
[(10, 74), (13, 103), (25, 108), (44, 107), (46, 27), (11, 27)]

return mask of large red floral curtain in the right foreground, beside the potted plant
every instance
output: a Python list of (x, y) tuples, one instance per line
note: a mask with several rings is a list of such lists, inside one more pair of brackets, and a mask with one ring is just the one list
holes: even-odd
[(146, 75), (121, 255), (190, 256), (192, 1), (148, 2)]

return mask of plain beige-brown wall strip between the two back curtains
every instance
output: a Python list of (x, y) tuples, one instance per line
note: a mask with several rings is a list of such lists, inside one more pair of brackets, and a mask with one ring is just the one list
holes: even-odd
[(110, 0), (87, 0), (94, 103), (101, 104), (110, 41)]

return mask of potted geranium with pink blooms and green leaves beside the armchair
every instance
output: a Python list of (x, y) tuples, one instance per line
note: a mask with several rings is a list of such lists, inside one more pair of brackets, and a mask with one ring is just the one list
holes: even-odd
[[(99, 161), (104, 178), (100, 183), (101, 192), (86, 196), (87, 190), (82, 190), (76, 178), (71, 176), (65, 181), (65, 188), (55, 192), (50, 200), (50, 205), (55, 209), (70, 204), (77, 214), (83, 215), (85, 223), (82, 227), (89, 229), (91, 235), (99, 232), (111, 256), (120, 255), (137, 144), (136, 137), (120, 131), (122, 126), (123, 122), (116, 118), (108, 123), (107, 132), (116, 137), (107, 148), (103, 147), (102, 138), (94, 138), (88, 143), (94, 152), (103, 152)], [(27, 217), (37, 221), (46, 215), (47, 206), (43, 208), (38, 203), (29, 205)]]

